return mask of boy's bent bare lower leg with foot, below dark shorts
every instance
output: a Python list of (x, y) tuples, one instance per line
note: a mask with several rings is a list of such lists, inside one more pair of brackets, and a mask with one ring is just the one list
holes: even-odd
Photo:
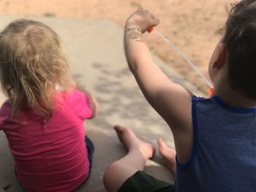
[(122, 126), (114, 128), (128, 153), (105, 170), (103, 181), (105, 188), (110, 192), (118, 191), (129, 177), (143, 170), (146, 159), (152, 158), (155, 152), (153, 145), (138, 139), (131, 129)]

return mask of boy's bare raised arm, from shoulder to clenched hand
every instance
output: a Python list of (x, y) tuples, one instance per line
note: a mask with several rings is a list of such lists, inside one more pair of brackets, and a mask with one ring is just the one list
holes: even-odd
[(141, 35), (157, 24), (159, 19), (140, 7), (127, 20), (124, 50), (129, 69), (134, 74), (140, 90), (175, 134), (175, 130), (192, 127), (192, 93), (168, 79), (154, 64), (150, 50), (142, 41)]

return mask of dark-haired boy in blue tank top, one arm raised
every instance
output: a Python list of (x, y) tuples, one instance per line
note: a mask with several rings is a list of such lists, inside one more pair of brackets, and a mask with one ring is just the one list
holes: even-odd
[(256, 189), (256, 1), (236, 4), (208, 66), (214, 96), (198, 98), (170, 81), (154, 64), (141, 35), (159, 20), (139, 8), (124, 32), (131, 72), (148, 102), (173, 132), (174, 150), (159, 151), (176, 172), (170, 185), (145, 174), (154, 147), (116, 126), (128, 153), (105, 171), (108, 191), (255, 191)]

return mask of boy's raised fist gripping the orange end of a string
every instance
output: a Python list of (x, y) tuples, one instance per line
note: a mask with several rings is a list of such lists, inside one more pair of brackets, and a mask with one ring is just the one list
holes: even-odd
[(148, 10), (143, 9), (143, 7), (139, 7), (137, 11), (127, 19), (126, 27), (138, 27), (141, 32), (144, 33), (152, 26), (157, 26), (159, 22), (159, 19), (148, 12)]

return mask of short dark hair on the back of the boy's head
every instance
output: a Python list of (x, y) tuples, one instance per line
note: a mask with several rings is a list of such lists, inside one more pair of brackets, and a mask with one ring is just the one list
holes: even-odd
[(228, 50), (228, 81), (236, 91), (256, 99), (256, 1), (241, 1), (230, 11), (223, 44)]

